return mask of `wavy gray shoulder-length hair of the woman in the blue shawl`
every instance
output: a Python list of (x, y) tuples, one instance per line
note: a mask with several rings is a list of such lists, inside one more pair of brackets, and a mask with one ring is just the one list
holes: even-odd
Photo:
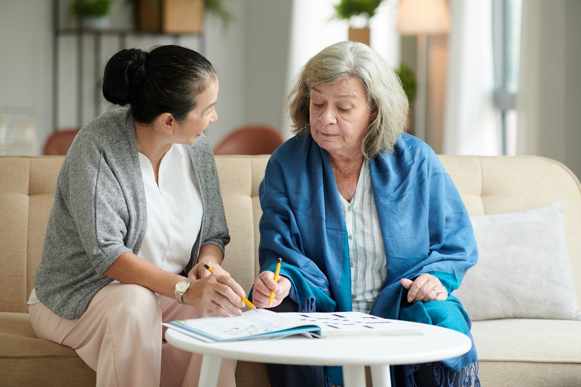
[(407, 124), (408, 100), (401, 81), (381, 55), (358, 42), (339, 42), (309, 59), (286, 97), (293, 133), (310, 133), (311, 88), (332, 85), (345, 78), (361, 79), (367, 104), (376, 116), (363, 136), (361, 150), (367, 160), (393, 147)]

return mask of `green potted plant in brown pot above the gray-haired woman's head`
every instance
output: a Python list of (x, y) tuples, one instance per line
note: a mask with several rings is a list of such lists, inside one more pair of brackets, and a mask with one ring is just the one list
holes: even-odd
[(341, 0), (336, 17), (349, 20), (349, 40), (369, 45), (369, 19), (383, 0)]

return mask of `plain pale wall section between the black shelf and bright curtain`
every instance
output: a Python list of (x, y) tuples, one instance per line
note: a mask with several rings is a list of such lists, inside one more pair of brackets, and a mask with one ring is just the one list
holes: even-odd
[(292, 1), (236, 0), (238, 21), (227, 32), (209, 20), (206, 56), (218, 69), (218, 121), (206, 135), (217, 144), (245, 124), (279, 128), (284, 115)]

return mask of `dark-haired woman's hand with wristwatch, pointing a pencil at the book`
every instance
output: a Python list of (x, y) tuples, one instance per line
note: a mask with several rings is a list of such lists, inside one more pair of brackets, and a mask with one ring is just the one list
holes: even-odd
[(212, 310), (224, 317), (229, 317), (229, 312), (242, 316), (240, 308), (243, 308), (244, 302), (241, 297), (245, 296), (242, 287), (232, 277), (212, 274), (192, 281), (182, 295), (182, 301), (196, 308)]

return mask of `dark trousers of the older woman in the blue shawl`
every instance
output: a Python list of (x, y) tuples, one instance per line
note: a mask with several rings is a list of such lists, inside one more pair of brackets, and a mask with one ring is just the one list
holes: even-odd
[[(286, 297), (278, 306), (271, 308), (272, 312), (298, 312), (299, 305)], [(428, 365), (429, 364), (429, 365)], [(460, 387), (464, 384), (464, 371), (455, 374), (444, 375), (441, 383), (436, 382), (434, 364), (428, 363), (419, 366), (414, 372), (415, 383), (418, 387), (447, 387), (450, 381), (451, 387)], [(321, 366), (290, 366), (288, 364), (266, 364), (268, 380), (272, 387), (325, 387), (325, 374)], [(393, 367), (394, 387), (405, 387), (406, 382), (403, 366)]]

